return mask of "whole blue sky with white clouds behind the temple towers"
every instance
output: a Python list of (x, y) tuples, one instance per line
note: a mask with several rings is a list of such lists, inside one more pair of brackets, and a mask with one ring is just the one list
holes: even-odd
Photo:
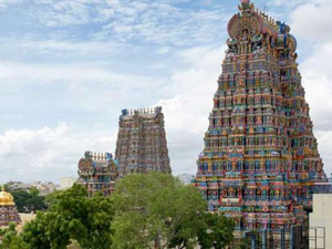
[[(196, 173), (238, 0), (0, 0), (0, 183), (77, 176), (123, 108), (163, 106), (174, 175)], [(256, 0), (291, 25), (332, 172), (332, 1)]]

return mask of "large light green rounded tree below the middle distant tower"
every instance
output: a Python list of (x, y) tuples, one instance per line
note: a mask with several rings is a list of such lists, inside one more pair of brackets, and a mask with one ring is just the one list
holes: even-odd
[(194, 248), (206, 201), (191, 186), (162, 173), (129, 175), (113, 195), (113, 243), (118, 249)]

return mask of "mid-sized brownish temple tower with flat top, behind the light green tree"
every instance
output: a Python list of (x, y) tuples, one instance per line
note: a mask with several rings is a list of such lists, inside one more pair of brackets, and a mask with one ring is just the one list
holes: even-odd
[(172, 172), (162, 107), (122, 111), (115, 158), (122, 176)]

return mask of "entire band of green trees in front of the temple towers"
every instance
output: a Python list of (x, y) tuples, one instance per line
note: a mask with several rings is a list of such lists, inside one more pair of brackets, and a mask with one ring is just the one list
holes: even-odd
[(160, 173), (124, 177), (111, 198), (89, 198), (74, 185), (48, 201), (21, 235), (12, 225), (0, 230), (0, 249), (221, 249), (232, 241), (232, 220), (206, 212), (195, 188)]

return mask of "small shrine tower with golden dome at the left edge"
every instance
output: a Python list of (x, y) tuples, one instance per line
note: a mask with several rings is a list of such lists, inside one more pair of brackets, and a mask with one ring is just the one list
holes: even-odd
[(7, 227), (10, 222), (21, 224), (21, 218), (12, 195), (2, 188), (0, 191), (0, 227)]

